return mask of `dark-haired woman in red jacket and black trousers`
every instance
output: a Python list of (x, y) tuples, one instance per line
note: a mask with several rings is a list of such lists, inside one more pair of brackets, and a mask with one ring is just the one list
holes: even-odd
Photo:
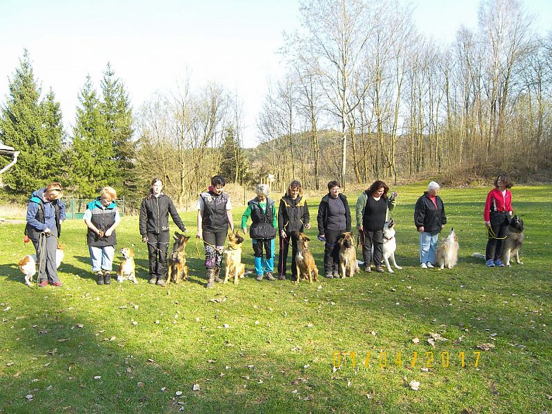
[(500, 257), (504, 248), (504, 239), (512, 216), (512, 187), (510, 177), (500, 174), (495, 180), (495, 188), (487, 195), (483, 218), (489, 233), (485, 250), (485, 264), (489, 267), (504, 267)]

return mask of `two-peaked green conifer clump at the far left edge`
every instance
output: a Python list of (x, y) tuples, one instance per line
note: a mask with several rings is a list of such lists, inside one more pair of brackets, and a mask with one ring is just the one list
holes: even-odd
[(20, 151), (3, 180), (11, 188), (30, 193), (61, 179), (63, 126), (52, 90), (43, 101), (27, 50), (9, 84), (6, 106), (0, 111), (0, 140)]

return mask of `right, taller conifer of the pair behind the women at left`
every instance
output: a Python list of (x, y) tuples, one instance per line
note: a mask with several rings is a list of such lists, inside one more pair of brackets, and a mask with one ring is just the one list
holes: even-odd
[(112, 186), (120, 194), (136, 189), (135, 144), (132, 142), (132, 110), (128, 94), (121, 79), (115, 77), (110, 63), (101, 79), (103, 101), (100, 111), (105, 121), (106, 132), (113, 145), (114, 170)]

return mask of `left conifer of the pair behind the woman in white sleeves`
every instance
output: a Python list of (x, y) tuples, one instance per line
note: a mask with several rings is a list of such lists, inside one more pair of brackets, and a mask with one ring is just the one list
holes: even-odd
[(113, 144), (90, 76), (79, 92), (79, 103), (68, 164), (77, 194), (92, 197), (103, 186), (113, 185)]

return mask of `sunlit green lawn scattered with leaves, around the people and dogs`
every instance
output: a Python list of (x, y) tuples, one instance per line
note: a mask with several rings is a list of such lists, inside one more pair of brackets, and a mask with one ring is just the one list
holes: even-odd
[[(402, 270), (312, 285), (246, 277), (207, 290), (193, 242), (188, 282), (148, 285), (137, 218), (124, 217), (119, 247), (134, 245), (139, 284), (95, 284), (79, 220), (63, 224), (63, 287), (28, 288), (14, 265), (33, 251), (23, 224), (0, 226), (0, 412), (552, 412), (552, 187), (513, 188), (524, 266), (490, 269), (471, 257), (484, 253), (488, 189), (443, 189), (445, 231), (460, 241), (453, 270), (419, 267), (422, 190), (397, 188)], [(194, 235), (195, 216), (183, 217)], [(322, 270), (322, 243), (312, 247)], [(432, 346), (431, 333), (443, 340)]]

